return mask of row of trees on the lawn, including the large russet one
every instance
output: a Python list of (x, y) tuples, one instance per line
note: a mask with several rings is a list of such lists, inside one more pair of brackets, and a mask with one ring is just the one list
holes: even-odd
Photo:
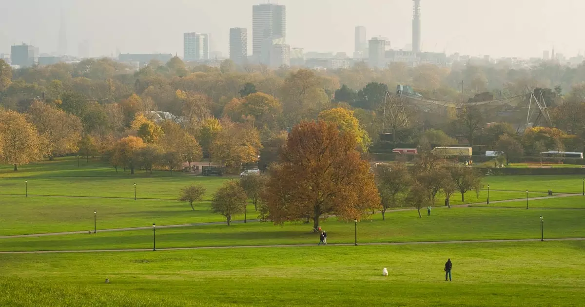
[[(263, 220), (281, 224), (292, 220), (319, 221), (331, 215), (345, 220), (367, 218), (372, 212), (398, 206), (420, 209), (435, 203), (439, 193), (446, 205), (455, 193), (462, 201), (468, 191), (481, 189), (481, 175), (472, 167), (460, 167), (424, 151), (413, 165), (378, 165), (360, 153), (352, 132), (325, 121), (303, 122), (292, 129), (268, 175), (250, 175), (228, 181), (213, 196), (211, 210), (225, 216), (246, 213), (250, 199)], [(201, 199), (204, 189), (185, 188), (180, 201)], [(246, 218), (245, 218), (246, 219)]]

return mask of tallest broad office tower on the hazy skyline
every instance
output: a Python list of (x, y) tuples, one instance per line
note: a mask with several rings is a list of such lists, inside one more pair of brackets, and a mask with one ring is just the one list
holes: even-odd
[(260, 4), (252, 8), (252, 54), (259, 57), (262, 43), (270, 37), (286, 37), (287, 18), (284, 5)]

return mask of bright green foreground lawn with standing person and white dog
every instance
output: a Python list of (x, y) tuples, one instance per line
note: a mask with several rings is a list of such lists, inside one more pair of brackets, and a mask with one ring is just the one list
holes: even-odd
[(582, 306), (584, 251), (530, 242), (0, 254), (0, 305)]

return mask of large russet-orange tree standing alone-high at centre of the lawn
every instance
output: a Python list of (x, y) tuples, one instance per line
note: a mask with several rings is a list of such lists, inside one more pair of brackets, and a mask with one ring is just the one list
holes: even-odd
[(323, 215), (361, 219), (380, 208), (380, 197), (370, 164), (356, 150), (355, 136), (339, 132), (326, 122), (303, 122), (294, 127), (271, 168), (264, 199), (274, 223), (312, 218), (319, 226)]

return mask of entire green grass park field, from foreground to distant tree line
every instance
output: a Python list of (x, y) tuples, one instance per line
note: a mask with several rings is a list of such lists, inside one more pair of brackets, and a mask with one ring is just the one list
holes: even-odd
[[(157, 249), (171, 247), (315, 244), (266, 247), (110, 253), (0, 254), (0, 306), (581, 306), (585, 303), (585, 241), (316, 246), (304, 223), (236, 223), (162, 229), (163, 225), (221, 222), (209, 212), (211, 195), (230, 178), (137, 171), (130, 175), (95, 160), (63, 158), (0, 167), (0, 236), (90, 230), (97, 234), (0, 239), (0, 251)], [(29, 196), (25, 194), (27, 180)], [(133, 184), (138, 199), (133, 199)], [(371, 216), (357, 224), (359, 243), (585, 237), (585, 198), (529, 200), (580, 193), (581, 178), (488, 176), (487, 191), (453, 195), (445, 208), (438, 195), (431, 216), (413, 210)], [(207, 187), (205, 201), (178, 202), (181, 187)], [(49, 196), (39, 196), (49, 195)], [(61, 196), (59, 196), (61, 195)], [(494, 203), (494, 201), (516, 199)], [(256, 218), (248, 207), (248, 219)], [(242, 215), (235, 216), (243, 219)], [(321, 222), (328, 243), (353, 243), (354, 225), (336, 218)], [(453, 282), (444, 282), (446, 258)], [(389, 277), (382, 277), (387, 267)], [(110, 278), (111, 284), (104, 284)]]

